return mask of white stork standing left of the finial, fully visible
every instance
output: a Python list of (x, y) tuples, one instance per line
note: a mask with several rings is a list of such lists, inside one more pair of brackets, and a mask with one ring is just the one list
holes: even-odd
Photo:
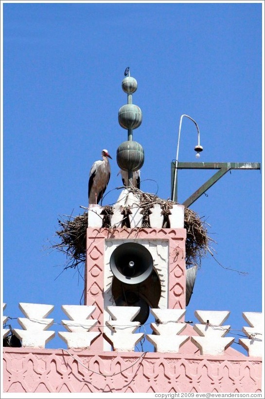
[(106, 191), (110, 178), (110, 165), (107, 158), (111, 158), (107, 150), (102, 150), (102, 161), (93, 163), (88, 181), (88, 203), (99, 204)]

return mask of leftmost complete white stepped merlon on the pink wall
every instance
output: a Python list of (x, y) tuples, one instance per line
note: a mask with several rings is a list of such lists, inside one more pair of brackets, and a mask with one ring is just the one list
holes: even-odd
[(23, 330), (15, 328), (14, 333), (22, 341), (22, 346), (45, 348), (45, 344), (55, 337), (54, 331), (45, 331), (53, 324), (53, 319), (46, 319), (46, 316), (53, 311), (54, 306), (19, 303), (19, 308), (26, 318), (18, 318)]

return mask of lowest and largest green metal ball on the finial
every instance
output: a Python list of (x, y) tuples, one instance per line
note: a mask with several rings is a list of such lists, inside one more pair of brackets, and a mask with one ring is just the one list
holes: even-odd
[(124, 141), (117, 149), (117, 164), (123, 171), (138, 171), (144, 162), (141, 144), (136, 141)]

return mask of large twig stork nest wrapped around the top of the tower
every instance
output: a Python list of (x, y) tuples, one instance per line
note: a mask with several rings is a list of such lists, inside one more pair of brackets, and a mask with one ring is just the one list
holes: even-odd
[[(140, 206), (143, 209), (143, 220), (142, 228), (150, 228), (149, 214), (150, 208), (154, 204), (160, 204), (162, 213), (164, 215), (163, 228), (169, 228), (168, 215), (170, 209), (174, 204), (177, 204), (171, 200), (160, 199), (155, 194), (142, 192), (136, 188), (130, 188), (136, 194), (140, 200)], [(124, 208), (124, 219), (122, 227), (130, 227), (128, 213), (130, 210), (128, 207)], [(86, 209), (86, 208), (85, 208)], [(112, 206), (105, 206), (101, 212), (103, 218), (103, 228), (111, 228), (110, 216), (113, 213)], [(56, 237), (59, 239), (58, 243), (52, 245), (52, 249), (66, 254), (67, 261), (65, 269), (76, 268), (82, 266), (86, 261), (86, 233), (88, 227), (88, 211), (85, 210), (83, 214), (77, 216), (64, 215), (60, 220), (58, 219), (60, 229), (55, 232)], [(194, 210), (185, 207), (184, 209), (184, 228), (187, 230), (186, 239), (186, 267), (201, 266), (201, 260), (207, 255), (207, 252), (211, 253), (209, 249), (210, 243), (213, 242), (207, 234), (208, 225), (205, 221), (198, 216)]]

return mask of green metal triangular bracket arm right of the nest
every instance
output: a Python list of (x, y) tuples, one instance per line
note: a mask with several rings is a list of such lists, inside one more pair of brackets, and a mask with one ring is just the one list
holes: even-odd
[(190, 207), (206, 190), (210, 189), (230, 169), (261, 169), (259, 162), (172, 162), (171, 163), (171, 199), (177, 202), (177, 171), (178, 169), (219, 169), (207, 182), (196, 190), (182, 205)]

